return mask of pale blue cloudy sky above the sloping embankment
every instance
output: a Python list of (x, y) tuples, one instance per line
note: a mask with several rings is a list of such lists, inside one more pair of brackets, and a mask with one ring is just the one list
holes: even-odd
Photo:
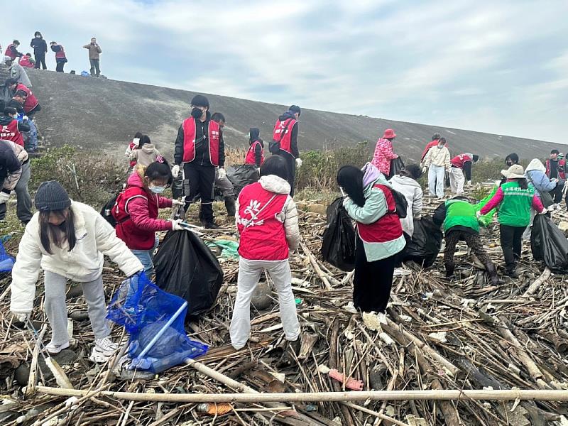
[[(568, 1), (34, 0), (65, 71), (347, 114), (568, 143)], [(48, 53), (55, 69), (55, 54)]]

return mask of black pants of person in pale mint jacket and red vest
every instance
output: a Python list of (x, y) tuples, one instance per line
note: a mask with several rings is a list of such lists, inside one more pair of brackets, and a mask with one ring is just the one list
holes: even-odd
[(395, 257), (368, 262), (363, 241), (357, 236), (353, 305), (363, 312), (385, 312), (391, 297)]

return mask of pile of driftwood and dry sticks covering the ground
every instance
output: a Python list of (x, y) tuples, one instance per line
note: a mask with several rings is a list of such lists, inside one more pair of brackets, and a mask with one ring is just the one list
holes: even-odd
[[(425, 207), (425, 214), (435, 207)], [(555, 222), (563, 216), (556, 213)], [(70, 297), (76, 342), (65, 351), (67, 359), (55, 359), (82, 392), (58, 388), (47, 368), (38, 369), (41, 386), (33, 386), (26, 366), (33, 360), (42, 367), (43, 359), (41, 354), (33, 359), (31, 333), (13, 324), (4, 291), (9, 278), (1, 281), (0, 423), (16, 425), (20, 417), (28, 425), (568, 424), (567, 283), (532, 261), (528, 244), (523, 276), (504, 278), (498, 286), (488, 282), (465, 247), (457, 253), (459, 278), (451, 281), (443, 278), (442, 255), (428, 270), (409, 265), (412, 273), (393, 283), (388, 324), (373, 330), (346, 309), (352, 275), (321, 260), (324, 215), (307, 211), (301, 219), (302, 247), (291, 258), (302, 325), (299, 344), (283, 338), (278, 297), (268, 292), (255, 299), (249, 346), (231, 348), (238, 263), (224, 259), (225, 284), (217, 305), (187, 326), (192, 339), (211, 346), (209, 352), (158, 376), (120, 371), (119, 356), (102, 366), (89, 362), (93, 335), (86, 305), (81, 296)], [(235, 236), (234, 231), (221, 234), (207, 235)], [(498, 228), (483, 238), (499, 265)], [(104, 279), (110, 297), (122, 278), (105, 268)], [(270, 284), (268, 279), (265, 288)], [(40, 326), (45, 322), (41, 285), (37, 297), (33, 320)], [(126, 338), (116, 326), (113, 337), (116, 342)], [(31, 385), (27, 395), (18, 379)], [(240, 395), (219, 396), (234, 393)], [(268, 393), (286, 395), (270, 398)], [(74, 394), (71, 405), (68, 398)]]

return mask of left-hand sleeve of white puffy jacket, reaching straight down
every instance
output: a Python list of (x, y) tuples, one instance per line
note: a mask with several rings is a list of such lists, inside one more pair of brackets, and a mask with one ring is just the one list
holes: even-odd
[[(37, 222), (37, 219), (34, 219)], [(38, 235), (33, 235), (31, 227), (35, 229), (35, 233)], [(38, 282), (42, 257), (39, 244), (37, 225), (26, 226), (26, 231), (24, 231), (20, 241), (16, 263), (12, 269), (11, 312), (27, 314), (33, 308), (35, 283)]]

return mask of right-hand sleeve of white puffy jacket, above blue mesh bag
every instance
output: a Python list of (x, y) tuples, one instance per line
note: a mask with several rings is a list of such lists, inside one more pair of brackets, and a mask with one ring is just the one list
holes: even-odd
[(105, 256), (109, 256), (111, 261), (116, 263), (121, 271), (124, 272), (124, 275), (129, 277), (139, 271), (143, 271), (142, 263), (126, 247), (124, 241), (116, 236), (114, 228), (100, 214), (97, 214), (94, 228), (97, 249)]

